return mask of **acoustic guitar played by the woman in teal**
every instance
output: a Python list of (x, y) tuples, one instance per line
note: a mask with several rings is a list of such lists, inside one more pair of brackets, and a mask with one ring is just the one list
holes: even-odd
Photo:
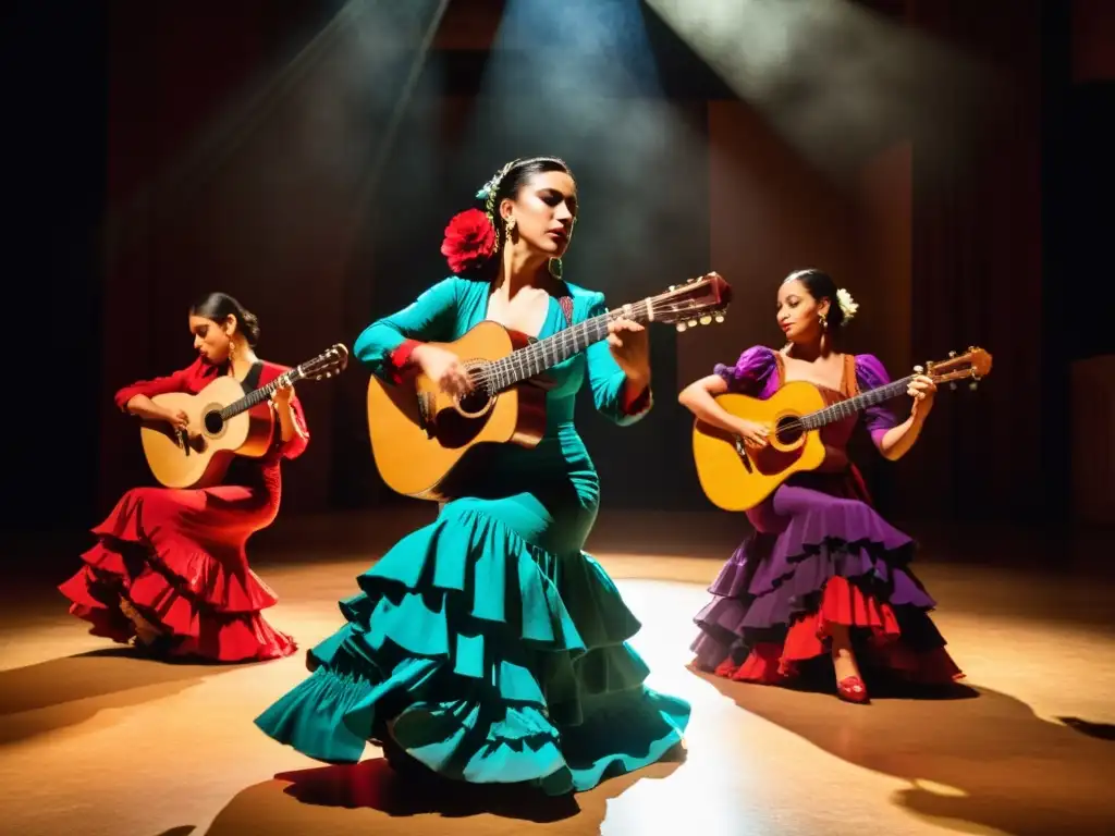
[(447, 343), (430, 343), (460, 358), (474, 389), (462, 397), (414, 370), (397, 383), (368, 385), (371, 451), (392, 490), (420, 499), (459, 496), (483, 467), (478, 448), (498, 444), (535, 447), (546, 427), (545, 389), (532, 378), (608, 338), (619, 318), (672, 323), (679, 331), (723, 322), (731, 289), (717, 273), (690, 279), (665, 293), (602, 313), (544, 340), (484, 321)]

